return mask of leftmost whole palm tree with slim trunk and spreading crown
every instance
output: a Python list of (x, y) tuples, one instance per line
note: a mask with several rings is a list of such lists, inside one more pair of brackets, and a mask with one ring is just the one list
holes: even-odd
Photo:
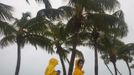
[[(36, 30), (34, 31), (35, 28), (34, 25), (33, 26), (28, 25), (29, 23), (27, 22), (29, 16), (30, 16), (29, 13), (24, 13), (22, 18), (20, 20), (16, 20), (14, 25), (11, 26), (12, 27), (12, 32), (10, 32), (11, 34), (4, 36), (0, 41), (1, 47), (8, 46), (10, 43), (17, 44), (17, 65), (15, 75), (19, 75), (20, 64), (21, 64), (21, 48), (23, 48), (26, 43), (30, 43), (35, 47), (37, 44), (41, 47), (48, 47), (48, 48), (50, 47), (50, 45), (47, 44), (47, 42), (49, 42), (49, 39), (46, 40), (39, 33), (37, 34), (35, 32)], [(37, 24), (39, 23), (37, 22)]]

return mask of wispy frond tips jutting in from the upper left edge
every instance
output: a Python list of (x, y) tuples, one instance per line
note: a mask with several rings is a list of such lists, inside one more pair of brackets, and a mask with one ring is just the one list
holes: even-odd
[(0, 3), (0, 20), (11, 20), (13, 8), (9, 5)]

